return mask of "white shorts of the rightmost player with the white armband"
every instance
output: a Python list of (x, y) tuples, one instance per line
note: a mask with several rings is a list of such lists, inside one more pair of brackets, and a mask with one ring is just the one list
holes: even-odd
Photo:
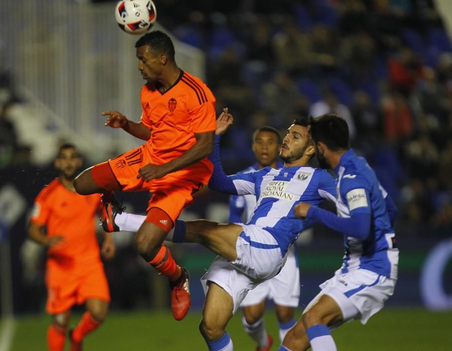
[(339, 269), (333, 278), (319, 285), (322, 291), (306, 306), (305, 312), (320, 296), (326, 294), (339, 305), (344, 318), (343, 322), (360, 319), (361, 323), (366, 324), (373, 314), (383, 308), (384, 302), (394, 293), (396, 282), (396, 279), (367, 269), (357, 269), (345, 274), (342, 274)]

